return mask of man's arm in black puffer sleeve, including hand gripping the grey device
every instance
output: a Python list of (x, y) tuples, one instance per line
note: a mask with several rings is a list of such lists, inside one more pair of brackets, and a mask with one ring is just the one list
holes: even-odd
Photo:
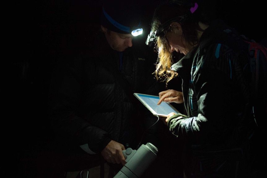
[(79, 112), (84, 98), (81, 71), (80, 67), (73, 64), (71, 67), (66, 65), (57, 69), (50, 89), (52, 127), (66, 149), (81, 146), (87, 153), (101, 153), (108, 162), (124, 163), (124, 146), (113, 141), (106, 130), (92, 124), (92, 120), (103, 119), (93, 114), (95, 108), (87, 109), (88, 115)]

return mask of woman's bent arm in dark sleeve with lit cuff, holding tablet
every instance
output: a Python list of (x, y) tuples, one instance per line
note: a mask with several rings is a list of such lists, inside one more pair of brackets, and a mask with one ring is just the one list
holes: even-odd
[[(189, 102), (193, 117), (174, 115), (168, 118), (168, 126), (177, 137), (222, 141), (244, 117), (245, 95), (239, 88), (246, 85), (242, 84), (243, 66), (238, 62), (239, 54), (235, 53), (220, 58), (205, 57), (208, 62), (201, 61), (206, 60), (202, 56), (199, 58), (190, 84)], [(232, 73), (234, 75), (230, 75)]]

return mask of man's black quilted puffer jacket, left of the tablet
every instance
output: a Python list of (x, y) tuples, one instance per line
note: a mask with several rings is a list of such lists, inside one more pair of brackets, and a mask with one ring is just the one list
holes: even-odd
[[(133, 41), (134, 43), (134, 41)], [(133, 93), (158, 94), (156, 53), (142, 41), (119, 54), (104, 34), (92, 35), (79, 56), (64, 58), (50, 86), (50, 121), (65, 149), (88, 144), (100, 153), (111, 141), (135, 148), (136, 123), (147, 109)], [(120, 68), (121, 67), (121, 68)]]

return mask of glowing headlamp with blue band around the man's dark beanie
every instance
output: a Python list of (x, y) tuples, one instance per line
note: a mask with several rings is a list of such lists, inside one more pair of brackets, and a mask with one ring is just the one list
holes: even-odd
[[(107, 14), (107, 12), (104, 10), (104, 7), (102, 8), (103, 10), (103, 14), (105, 15), (105, 17), (107, 18), (107, 20), (116, 28), (118, 28), (119, 30), (122, 31), (122, 33), (131, 33), (133, 36), (138, 36), (141, 35), (143, 33), (143, 29), (142, 28), (138, 28), (141, 26), (141, 21), (139, 22), (137, 27), (127, 27), (125, 25), (122, 25), (120, 23), (118, 23), (116, 20), (112, 19), (111, 16), (109, 16)], [(134, 29), (134, 30), (133, 30)]]

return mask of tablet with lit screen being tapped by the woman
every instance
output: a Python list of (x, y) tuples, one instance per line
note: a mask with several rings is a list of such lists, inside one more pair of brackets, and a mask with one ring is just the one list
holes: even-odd
[(171, 112), (174, 113), (180, 113), (173, 107), (170, 103), (168, 102), (161, 102), (160, 105), (157, 105), (157, 103), (160, 100), (159, 96), (154, 96), (154, 95), (148, 95), (148, 94), (141, 94), (141, 93), (134, 93), (134, 96), (138, 98), (140, 102), (144, 106), (147, 107), (149, 111), (153, 115), (159, 116), (159, 117), (167, 117), (167, 115)]

